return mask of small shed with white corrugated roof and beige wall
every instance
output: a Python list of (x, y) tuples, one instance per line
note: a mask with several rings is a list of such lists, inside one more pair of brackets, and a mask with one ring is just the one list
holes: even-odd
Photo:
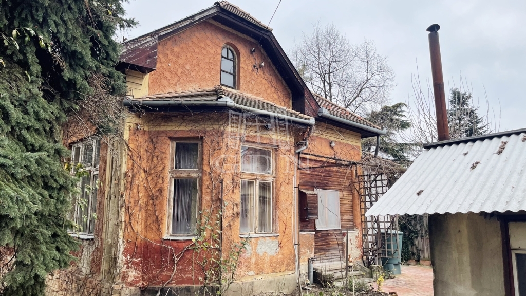
[(436, 295), (526, 295), (526, 129), (423, 147), (366, 215), (430, 215)]

